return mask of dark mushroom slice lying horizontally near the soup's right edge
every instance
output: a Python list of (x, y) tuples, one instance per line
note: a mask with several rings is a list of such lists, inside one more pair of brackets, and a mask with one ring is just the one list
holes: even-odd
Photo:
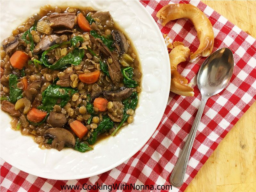
[(122, 101), (132, 95), (132, 89), (121, 87), (115, 91), (104, 91), (103, 95), (109, 101)]

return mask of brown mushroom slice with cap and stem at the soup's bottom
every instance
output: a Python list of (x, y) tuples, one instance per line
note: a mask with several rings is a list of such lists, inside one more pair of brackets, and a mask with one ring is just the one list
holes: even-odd
[(56, 148), (59, 151), (62, 150), (65, 145), (68, 147), (74, 147), (76, 140), (74, 135), (67, 129), (60, 127), (49, 128), (44, 132), (44, 138), (52, 138), (52, 148)]

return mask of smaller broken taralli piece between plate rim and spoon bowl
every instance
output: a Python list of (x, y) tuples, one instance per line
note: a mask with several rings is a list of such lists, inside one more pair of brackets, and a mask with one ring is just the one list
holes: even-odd
[(186, 61), (190, 53), (188, 47), (178, 45), (169, 53), (171, 64), (171, 87), (170, 91), (178, 95), (194, 96), (194, 89), (188, 84), (188, 80), (177, 71), (177, 65)]

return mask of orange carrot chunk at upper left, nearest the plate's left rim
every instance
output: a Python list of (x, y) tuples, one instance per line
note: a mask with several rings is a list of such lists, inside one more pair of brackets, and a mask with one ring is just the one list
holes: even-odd
[(23, 52), (23, 51), (16, 51), (12, 54), (12, 57), (10, 58), (10, 62), (12, 64), (12, 67), (17, 69), (22, 69), (26, 63), (28, 62), (29, 56)]

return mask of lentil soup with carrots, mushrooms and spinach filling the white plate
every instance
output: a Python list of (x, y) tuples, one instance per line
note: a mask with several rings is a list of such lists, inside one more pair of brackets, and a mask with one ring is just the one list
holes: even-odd
[(141, 75), (108, 11), (46, 5), (3, 41), (1, 109), (40, 148), (85, 152), (132, 123)]

